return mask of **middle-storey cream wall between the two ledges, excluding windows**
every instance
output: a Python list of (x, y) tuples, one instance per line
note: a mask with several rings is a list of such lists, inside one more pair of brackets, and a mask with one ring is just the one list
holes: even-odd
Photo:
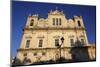
[[(78, 38), (84, 39), (87, 42), (86, 37), (84, 37), (83, 31), (77, 32)], [(77, 40), (76, 32), (74, 30), (34, 30), (25, 31), (21, 48), (25, 48), (26, 40), (30, 40), (30, 48), (38, 48), (39, 40), (43, 40), (42, 48), (55, 48), (55, 39), (59, 39), (61, 44), (61, 37), (64, 37), (64, 44), (62, 47), (70, 47), (70, 39)]]

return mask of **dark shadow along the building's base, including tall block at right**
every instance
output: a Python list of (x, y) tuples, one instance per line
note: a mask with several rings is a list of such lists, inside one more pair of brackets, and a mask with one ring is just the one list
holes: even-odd
[(73, 47), (70, 47), (70, 54), (72, 56), (72, 59), (70, 59), (70, 60), (69, 59), (65, 59), (64, 57), (60, 57), (60, 58), (58, 58), (56, 60), (52, 60), (51, 59), (51, 60), (46, 60), (46, 61), (34, 62), (32, 64), (27, 64), (27, 62), (31, 63), (30, 59), (24, 58), (24, 61), (21, 62), (18, 58), (15, 58), (14, 62), (12, 64), (12, 67), (95, 61), (95, 59), (94, 60), (90, 59), (88, 49), (89, 49), (89, 47), (88, 46), (84, 46), (83, 43), (76, 42)]

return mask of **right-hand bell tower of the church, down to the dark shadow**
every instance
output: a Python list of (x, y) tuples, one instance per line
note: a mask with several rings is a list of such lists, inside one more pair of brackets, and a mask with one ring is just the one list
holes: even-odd
[(74, 16), (74, 23), (75, 23), (76, 40), (84, 42), (85, 46), (88, 45), (86, 29), (83, 24), (82, 16)]

